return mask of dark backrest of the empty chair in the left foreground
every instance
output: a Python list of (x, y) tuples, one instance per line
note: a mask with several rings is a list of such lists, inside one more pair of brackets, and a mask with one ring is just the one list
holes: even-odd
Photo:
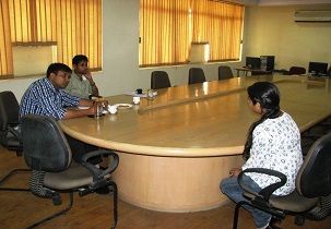
[(71, 149), (57, 121), (28, 114), (21, 119), (23, 155), (26, 165), (38, 171), (58, 172), (71, 162)]

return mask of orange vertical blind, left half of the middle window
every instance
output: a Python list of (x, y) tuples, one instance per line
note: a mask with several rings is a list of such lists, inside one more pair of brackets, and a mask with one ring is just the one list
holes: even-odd
[(140, 2), (141, 64), (184, 63), (187, 60), (190, 0)]

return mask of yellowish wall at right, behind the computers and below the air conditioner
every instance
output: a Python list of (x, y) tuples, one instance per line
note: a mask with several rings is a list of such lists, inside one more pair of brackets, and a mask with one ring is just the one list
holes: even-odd
[(305, 67), (309, 61), (331, 62), (331, 23), (297, 23), (295, 10), (331, 10), (326, 5), (248, 7), (246, 56), (274, 55), (276, 69)]

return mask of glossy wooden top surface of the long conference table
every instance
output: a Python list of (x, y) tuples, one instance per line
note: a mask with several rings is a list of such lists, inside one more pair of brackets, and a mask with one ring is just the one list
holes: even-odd
[[(274, 82), (281, 109), (302, 131), (331, 113), (329, 79), (249, 76), (158, 89), (153, 100), (120, 109), (98, 120), (61, 120), (62, 130), (81, 141), (115, 150), (172, 157), (210, 157), (241, 154), (249, 125), (259, 117), (247, 104), (247, 86)], [(108, 97), (110, 105), (131, 96)]]

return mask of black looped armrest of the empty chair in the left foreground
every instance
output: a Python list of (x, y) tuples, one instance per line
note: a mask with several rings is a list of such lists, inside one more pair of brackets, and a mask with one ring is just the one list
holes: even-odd
[[(106, 170), (101, 170), (95, 167), (95, 165), (87, 162), (87, 159), (94, 156), (98, 155), (108, 155), (113, 157), (111, 165)], [(101, 179), (104, 179), (104, 177), (108, 173), (111, 173), (118, 166), (119, 158), (118, 155), (115, 154), (113, 150), (106, 150), (106, 149), (98, 149), (98, 150), (93, 150), (84, 154), (82, 157), (82, 162), (81, 165), (84, 166), (86, 169), (88, 169), (93, 173), (93, 181), (97, 181)]]

